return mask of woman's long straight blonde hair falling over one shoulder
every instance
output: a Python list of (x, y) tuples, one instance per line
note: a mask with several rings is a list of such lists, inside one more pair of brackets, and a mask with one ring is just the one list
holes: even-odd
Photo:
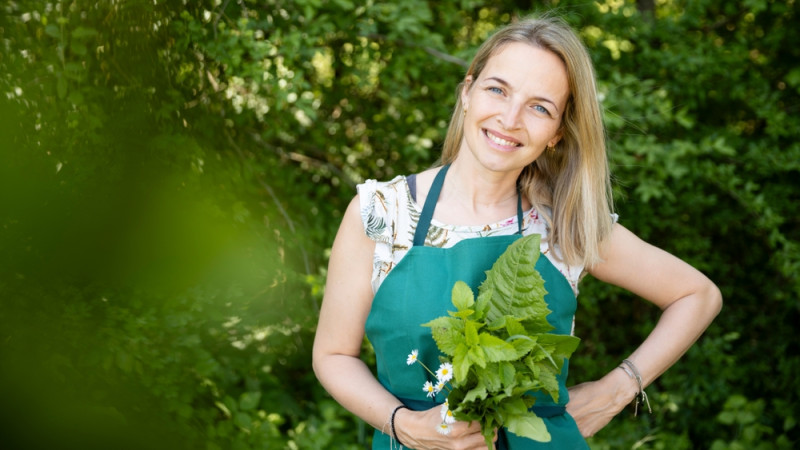
[[(565, 22), (554, 17), (531, 18), (507, 25), (487, 39), (467, 76), (476, 80), (492, 55), (512, 42), (553, 52), (566, 66), (570, 95), (562, 115), (562, 138), (554, 150), (544, 151), (525, 167), (517, 183), (547, 221), (549, 243), (558, 246), (560, 257), (570, 265), (591, 267), (600, 262), (600, 244), (613, 224), (605, 132), (591, 59)], [(464, 137), (463, 88), (462, 81), (444, 141), (442, 164), (455, 160)]]

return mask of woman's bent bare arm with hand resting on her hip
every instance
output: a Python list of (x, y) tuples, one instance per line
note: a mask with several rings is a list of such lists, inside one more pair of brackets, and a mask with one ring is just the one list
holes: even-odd
[[(643, 386), (672, 366), (700, 337), (722, 307), (719, 289), (705, 275), (617, 224), (603, 247), (604, 261), (589, 270), (662, 310), (656, 327), (628, 357)], [(584, 436), (604, 427), (636, 395), (638, 385), (622, 370), (570, 389), (567, 410)]]

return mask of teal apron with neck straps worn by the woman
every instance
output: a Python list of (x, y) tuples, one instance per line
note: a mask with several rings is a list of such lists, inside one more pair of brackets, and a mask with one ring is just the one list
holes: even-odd
[[(465, 239), (451, 248), (426, 247), (425, 237), (433, 210), (439, 199), (449, 166), (442, 167), (431, 185), (414, 234), (414, 244), (381, 283), (372, 301), (366, 322), (366, 334), (377, 361), (378, 381), (403, 404), (412, 410), (424, 411), (444, 403), (445, 394), (427, 397), (422, 385), (434, 381), (418, 364), (409, 366), (406, 358), (419, 350), (418, 358), (433, 371), (439, 367), (439, 349), (431, 337), (430, 328), (420, 326), (453, 310), (450, 295), (456, 281), (464, 281), (477, 293), (497, 258), (522, 236), (522, 201), (517, 201), (517, 234)], [(548, 321), (557, 334), (570, 334), (577, 301), (567, 280), (548, 258), (539, 258), (536, 270), (545, 280), (548, 294), (545, 301), (552, 313)], [(565, 411), (569, 400), (566, 389), (568, 361), (559, 381), (559, 402), (546, 394), (534, 393), (533, 411), (542, 417), (552, 436), (548, 443), (520, 438), (501, 430), (497, 448), (522, 449), (588, 449), (575, 421)], [(390, 449), (387, 434), (376, 430), (373, 449)]]

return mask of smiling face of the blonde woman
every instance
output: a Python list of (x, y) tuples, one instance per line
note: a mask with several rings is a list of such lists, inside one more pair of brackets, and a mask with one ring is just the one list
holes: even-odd
[(476, 79), (466, 79), (458, 158), (518, 174), (561, 139), (568, 97), (567, 70), (558, 56), (525, 43), (505, 44)]

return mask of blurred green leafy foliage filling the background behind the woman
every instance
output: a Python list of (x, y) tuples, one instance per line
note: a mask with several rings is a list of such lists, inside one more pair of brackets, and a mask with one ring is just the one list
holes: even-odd
[[(596, 64), (621, 221), (726, 300), (592, 448), (796, 447), (795, 0), (2, 2), (4, 443), (367, 446), (310, 369), (342, 211), (436, 161), (476, 46), (552, 9)], [(658, 317), (580, 302), (573, 382)]]

